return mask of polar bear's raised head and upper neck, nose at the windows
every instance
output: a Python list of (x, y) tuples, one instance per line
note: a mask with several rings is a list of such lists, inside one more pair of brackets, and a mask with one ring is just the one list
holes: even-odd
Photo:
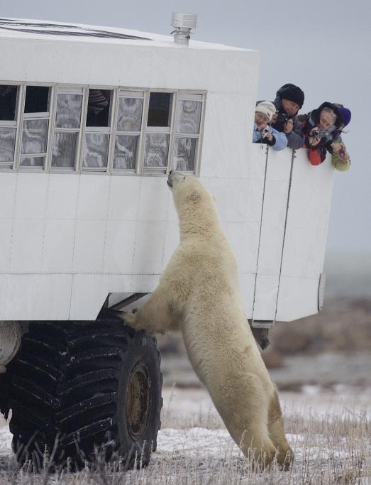
[[(167, 185), (174, 198), (181, 232), (210, 236), (212, 227), (219, 227), (215, 200), (194, 175), (172, 171)], [(207, 234), (206, 234), (207, 233)]]

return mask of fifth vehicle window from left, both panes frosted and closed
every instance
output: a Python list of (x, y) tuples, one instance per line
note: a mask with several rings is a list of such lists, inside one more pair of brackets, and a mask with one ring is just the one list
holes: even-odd
[(135, 170), (143, 117), (143, 91), (120, 91), (113, 169)]

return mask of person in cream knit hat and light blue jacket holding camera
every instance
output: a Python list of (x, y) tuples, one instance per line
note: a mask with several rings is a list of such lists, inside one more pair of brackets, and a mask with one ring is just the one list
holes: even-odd
[(275, 112), (275, 105), (269, 101), (260, 102), (255, 107), (253, 142), (266, 143), (279, 151), (286, 148), (287, 138), (284, 133), (280, 133), (269, 125)]

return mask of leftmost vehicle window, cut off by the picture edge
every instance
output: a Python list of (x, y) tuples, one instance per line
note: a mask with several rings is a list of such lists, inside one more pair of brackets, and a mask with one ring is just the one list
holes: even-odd
[(18, 87), (0, 85), (0, 166), (11, 168), (16, 146)]

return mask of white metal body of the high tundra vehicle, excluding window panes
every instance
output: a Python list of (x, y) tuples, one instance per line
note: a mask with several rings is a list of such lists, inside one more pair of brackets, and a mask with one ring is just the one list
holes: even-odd
[[(311, 166), (306, 150), (275, 152), (252, 143), (259, 53), (193, 40), (182, 46), (172, 37), (118, 28), (104, 31), (142, 39), (73, 35), (87, 30), (0, 23), (0, 84), (18, 89), (16, 120), (0, 121), (0, 132), (16, 133), (13, 160), (0, 163), (0, 320), (94, 320), (110, 293), (154, 290), (178, 242), (166, 177), (179, 168), (182, 99), (202, 104), (189, 173), (216, 198), (247, 317), (272, 322), (316, 313), (333, 168), (329, 159)], [(23, 111), (28, 86), (49, 87), (48, 112)], [(98, 133), (108, 136), (103, 167), (89, 167), (84, 158), (89, 89), (112, 93), (111, 124)], [(151, 92), (172, 99), (170, 126), (152, 131), (167, 136), (160, 167), (145, 165)], [(52, 165), (55, 136), (63, 133), (55, 122), (63, 93), (82, 100), (69, 168)], [(113, 165), (118, 99), (130, 95), (143, 100), (142, 124), (135, 166), (121, 170)], [(35, 118), (48, 120), (47, 149), (36, 156), (28, 150), (23, 164), (25, 123)]]

